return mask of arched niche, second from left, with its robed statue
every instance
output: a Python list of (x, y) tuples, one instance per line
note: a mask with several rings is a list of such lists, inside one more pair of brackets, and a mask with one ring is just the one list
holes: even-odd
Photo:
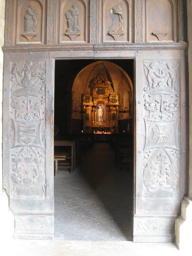
[[(76, 6), (73, 7), (74, 5)], [(87, 6), (84, 1), (61, 1), (59, 43), (87, 42), (87, 20)]]

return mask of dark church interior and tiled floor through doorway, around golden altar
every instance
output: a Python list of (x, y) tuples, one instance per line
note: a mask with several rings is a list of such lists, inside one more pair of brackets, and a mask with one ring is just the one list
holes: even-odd
[[(86, 79), (91, 80), (94, 76), (97, 75), (98, 72), (100, 72), (102, 73), (103, 76), (106, 76), (106, 77), (110, 76), (110, 78), (112, 77), (110, 80), (113, 82), (113, 90), (116, 89), (116, 91), (118, 92), (120, 103), (122, 101), (122, 93), (123, 93), (124, 102), (126, 102), (125, 99), (128, 94), (128, 90), (129, 92), (131, 91), (130, 95), (132, 96), (130, 98), (131, 100), (130, 104), (128, 105), (126, 102), (126, 105), (125, 105), (125, 109), (128, 108), (128, 111), (126, 111), (126, 113), (119, 113), (120, 133), (118, 132), (118, 133), (111, 134), (111, 136), (113, 135), (113, 138), (111, 137), (111, 140), (110, 138), (108, 138), (108, 141), (106, 140), (101, 141), (101, 140), (98, 140), (97, 138), (95, 145), (94, 146), (92, 145), (92, 147), (91, 147), (91, 143), (87, 143), (86, 145), (84, 145), (84, 143), (81, 143), (81, 157), (83, 159), (82, 161), (84, 162), (83, 163), (81, 162), (80, 166), (77, 166), (75, 171), (72, 174), (69, 174), (67, 169), (62, 169), (63, 165), (61, 161), (61, 169), (59, 169), (59, 173), (57, 177), (55, 177), (55, 185), (54, 185), (55, 186), (55, 194), (54, 194), (55, 195), (55, 239), (81, 240), (82, 229), (86, 228), (87, 235), (86, 235), (86, 238), (83, 237), (85, 240), (106, 240), (106, 239), (107, 240), (111, 239), (112, 241), (115, 241), (115, 240), (131, 241), (132, 240), (133, 230), (132, 230), (131, 222), (133, 220), (133, 217), (132, 217), (132, 214), (133, 214), (133, 210), (132, 210), (133, 164), (131, 163), (133, 163), (133, 154), (131, 156), (132, 157), (131, 163), (127, 161), (128, 163), (126, 164), (124, 158), (125, 159), (126, 157), (130, 158), (130, 156), (129, 155), (127, 156), (126, 155), (127, 153), (123, 152), (123, 156), (119, 157), (121, 159), (121, 166), (120, 166), (120, 163), (118, 163), (118, 159), (117, 159), (119, 152), (117, 152), (116, 146), (117, 145), (122, 146), (124, 151), (126, 151), (126, 148), (129, 148), (129, 150), (133, 151), (133, 130), (132, 130), (133, 113), (131, 113), (131, 111), (133, 111), (133, 107), (132, 107), (133, 85), (131, 80), (133, 81), (133, 77), (134, 77), (134, 74), (133, 74), (134, 62), (133, 60), (122, 60), (122, 61), (112, 60), (112, 61), (113, 62), (111, 62), (111, 60), (108, 60), (108, 61), (105, 61), (105, 60), (103, 61), (94, 61), (94, 60), (55, 61), (55, 108), (54, 110), (55, 110), (56, 126), (59, 128), (59, 132), (61, 131), (61, 134), (58, 133), (58, 135), (55, 137), (56, 140), (62, 140), (64, 138), (71, 139), (72, 137), (73, 138), (80, 137), (80, 141), (81, 141), (82, 139), (87, 140), (85, 138), (86, 135), (88, 135), (88, 137), (90, 137), (90, 135), (94, 136), (93, 133), (87, 133), (87, 134), (85, 133), (83, 134), (84, 136), (82, 137), (81, 136), (82, 128), (80, 128), (80, 125), (75, 125), (75, 121), (77, 122), (79, 121), (77, 119), (74, 120), (73, 116), (77, 116), (76, 113), (79, 113), (79, 111), (81, 111), (81, 104), (82, 104), (81, 102), (82, 93), (79, 94), (80, 99), (78, 100), (78, 103), (76, 104), (72, 103), (74, 102), (74, 100), (77, 102), (76, 97), (75, 99), (73, 98), (75, 89), (78, 91), (77, 81), (80, 80), (82, 82), (80, 86), (83, 88), (83, 89), (81, 88), (81, 90), (84, 92), (85, 91), (84, 87), (86, 87), (85, 84), (88, 84), (89, 82), (89, 81), (85, 81), (85, 84), (83, 84), (84, 80)], [(129, 78), (128, 80), (126, 79), (126, 77), (123, 77), (123, 81), (122, 81), (122, 70), (119, 70), (120, 67), (117, 66), (116, 63), (120, 64), (123, 68), (125, 68), (127, 73), (129, 73), (129, 76), (131, 77), (131, 79), (128, 77)], [(68, 71), (66, 70), (66, 67)], [(72, 67), (73, 67), (73, 70), (71, 71)], [(77, 71), (76, 71), (76, 67), (78, 67)], [(81, 71), (78, 71), (80, 69)], [(87, 72), (90, 74), (88, 74)], [(125, 71), (123, 70), (123, 72)], [(114, 74), (116, 74), (116, 76), (114, 76)], [(85, 76), (84, 79), (82, 79), (83, 75)], [(118, 76), (120, 76), (120, 79), (117, 81), (116, 78)], [(124, 87), (125, 87), (123, 88), (124, 91), (122, 90), (122, 87), (119, 86), (119, 84), (122, 82), (124, 83)], [(72, 86), (71, 87), (68, 86), (69, 88), (67, 88), (67, 85), (68, 84), (70, 85), (70, 83), (72, 84)], [(125, 86), (125, 83), (127, 83), (126, 86)], [(64, 86), (66, 88), (63, 88)], [(64, 96), (64, 93), (62, 96), (61, 90), (67, 91), (65, 96)], [(70, 99), (70, 96), (67, 99), (68, 95), (70, 95), (72, 99)], [(65, 116), (65, 118), (61, 119), (61, 116), (64, 116), (64, 114), (66, 113), (64, 113), (65, 111), (62, 111), (61, 105), (60, 107), (58, 107), (59, 100), (61, 101), (61, 105), (63, 105), (63, 102), (65, 102), (64, 109), (66, 110), (66, 106), (68, 107), (67, 113), (70, 113), (69, 115), (72, 116), (72, 120), (70, 120), (69, 118), (70, 116), (67, 116), (67, 117)], [(67, 101), (72, 104), (67, 104)], [(70, 105), (72, 109), (70, 109)], [(120, 107), (120, 104), (119, 104), (119, 107)], [(83, 116), (83, 113), (81, 113), (81, 116)], [(58, 125), (59, 119), (61, 120), (61, 122), (64, 122), (65, 120), (66, 127), (64, 128), (64, 132), (62, 132), (62, 129), (63, 129), (62, 123), (60, 126)], [(70, 125), (70, 122), (73, 122), (73, 125)], [(128, 126), (126, 125), (126, 123), (129, 124), (128, 129), (126, 128), (126, 126)], [(73, 130), (70, 131), (71, 127), (73, 127)], [(77, 127), (79, 127), (79, 131), (77, 130)], [(70, 136), (69, 134), (68, 135), (65, 134), (66, 131), (69, 131), (69, 133), (71, 133)], [(126, 140), (129, 140), (129, 142), (127, 142)], [(100, 149), (98, 148), (98, 146)], [(107, 161), (105, 160), (105, 157), (102, 157), (100, 163), (103, 164), (103, 167), (99, 166), (99, 162), (95, 163), (94, 157), (93, 157), (92, 158), (93, 163), (92, 164), (90, 163), (90, 166), (87, 166), (87, 164), (85, 163), (87, 163), (87, 161), (90, 162), (90, 159), (91, 159), (90, 152), (88, 153), (88, 155), (87, 155), (87, 151), (85, 153), (83, 152), (87, 147), (90, 148), (88, 151), (91, 151), (91, 152), (93, 151), (94, 152), (93, 154), (97, 154), (97, 155), (99, 153), (98, 150), (102, 150), (102, 152), (104, 153), (105, 152), (104, 147), (106, 147), (107, 152), (105, 157), (107, 157), (107, 155), (108, 157), (111, 157), (112, 156), (111, 154), (113, 154), (113, 157), (110, 158), (111, 160), (106, 159)], [(58, 148), (58, 147), (55, 147), (55, 148)], [(60, 150), (62, 149), (60, 148)], [(101, 156), (101, 154), (99, 155)], [(122, 160), (124, 160), (124, 162), (122, 162)], [(113, 165), (111, 165), (111, 163), (113, 163)], [(97, 168), (94, 168), (95, 165), (99, 166), (99, 170)], [(88, 172), (88, 174), (86, 174), (84, 169), (86, 169), (86, 172)], [(77, 183), (79, 184), (76, 187)], [(113, 183), (113, 188), (112, 188), (112, 183)], [(64, 187), (64, 185), (67, 185), (67, 186)], [(95, 222), (99, 222), (99, 223), (95, 223)], [(81, 231), (79, 230), (80, 227), (81, 227)], [(94, 227), (94, 230), (90, 232), (90, 230), (93, 229), (93, 227)], [(79, 233), (78, 233), (78, 230), (80, 231)], [(90, 234), (92, 233), (96, 233), (96, 235), (91, 236)]]

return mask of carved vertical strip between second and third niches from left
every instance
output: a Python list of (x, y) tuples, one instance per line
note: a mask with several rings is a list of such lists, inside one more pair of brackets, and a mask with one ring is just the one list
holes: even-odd
[(97, 38), (97, 1), (90, 0), (90, 43), (96, 43)]

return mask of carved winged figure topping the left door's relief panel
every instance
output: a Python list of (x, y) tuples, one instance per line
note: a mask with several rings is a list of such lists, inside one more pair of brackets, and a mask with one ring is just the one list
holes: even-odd
[(37, 61), (27, 61), (23, 69), (20, 71), (19, 67), (17, 66), (17, 74), (23, 79), (21, 80), (21, 84), (23, 87), (33, 87), (34, 81), (32, 77), (39, 77), (40, 79), (45, 79), (44, 73), (35, 73), (37, 69), (43, 70), (44, 67), (40, 66)]

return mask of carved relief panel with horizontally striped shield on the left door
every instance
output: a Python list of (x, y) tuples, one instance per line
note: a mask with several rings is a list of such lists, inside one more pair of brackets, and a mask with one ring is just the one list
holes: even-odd
[(12, 63), (12, 196), (45, 197), (45, 61)]

